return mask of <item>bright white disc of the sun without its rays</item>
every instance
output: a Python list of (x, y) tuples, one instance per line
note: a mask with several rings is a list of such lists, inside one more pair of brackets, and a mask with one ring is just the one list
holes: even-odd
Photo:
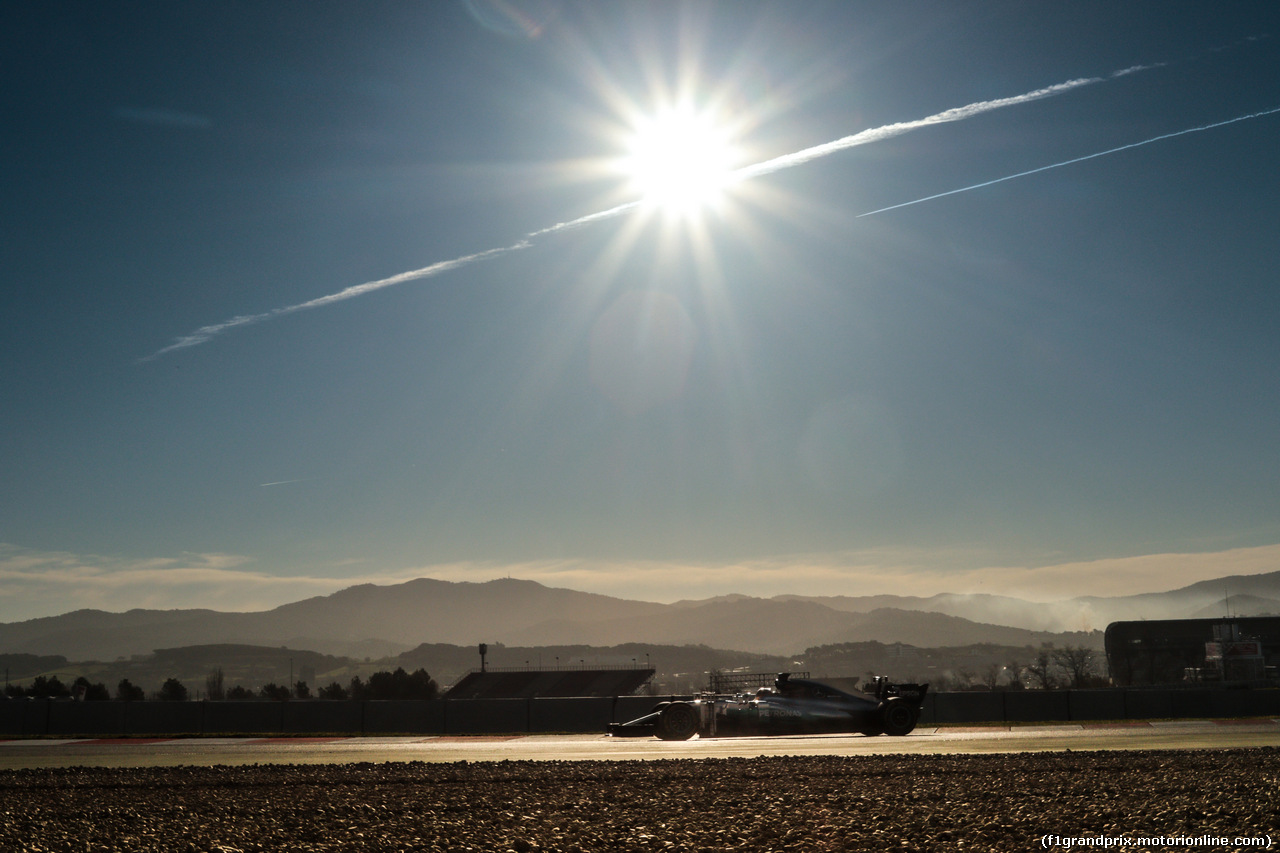
[(668, 108), (634, 123), (620, 168), (631, 192), (662, 213), (716, 207), (733, 182), (737, 151), (709, 114)]

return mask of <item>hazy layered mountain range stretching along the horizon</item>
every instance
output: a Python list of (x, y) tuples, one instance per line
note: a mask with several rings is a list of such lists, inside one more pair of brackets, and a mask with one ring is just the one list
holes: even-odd
[[(1228, 597), (1229, 596), (1229, 597)], [(378, 657), (421, 643), (511, 646), (705, 644), (763, 654), (879, 640), (920, 647), (1042, 642), (1097, 644), (1111, 621), (1280, 612), (1280, 571), (1161, 593), (1038, 603), (989, 594), (724, 596), (672, 605), (544, 587), (530, 580), (349, 587), (261, 612), (79, 610), (0, 624), (0, 652), (114, 660), (207, 643), (288, 646)], [(1064, 637), (1064, 633), (1068, 635)]]

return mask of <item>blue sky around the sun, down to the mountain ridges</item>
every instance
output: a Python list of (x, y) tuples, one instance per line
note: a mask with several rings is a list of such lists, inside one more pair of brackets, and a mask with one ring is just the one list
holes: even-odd
[[(0, 621), (420, 575), (672, 601), (1275, 570), (1277, 23), (5, 4)], [(737, 167), (988, 106), (547, 232), (636, 200), (618, 161), (672, 101)]]

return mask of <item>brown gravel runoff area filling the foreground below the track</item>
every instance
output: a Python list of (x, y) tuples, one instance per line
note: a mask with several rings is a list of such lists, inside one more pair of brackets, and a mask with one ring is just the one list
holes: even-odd
[(1235, 850), (1280, 845), (1280, 748), (14, 770), (0, 816), (32, 852)]

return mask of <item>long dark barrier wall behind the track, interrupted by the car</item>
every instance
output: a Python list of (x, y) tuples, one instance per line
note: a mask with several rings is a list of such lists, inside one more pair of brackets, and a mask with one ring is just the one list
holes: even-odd
[[(369, 702), (0, 701), (0, 736), (604, 733), (681, 697)], [(1280, 717), (1280, 689), (931, 693), (920, 725)]]

